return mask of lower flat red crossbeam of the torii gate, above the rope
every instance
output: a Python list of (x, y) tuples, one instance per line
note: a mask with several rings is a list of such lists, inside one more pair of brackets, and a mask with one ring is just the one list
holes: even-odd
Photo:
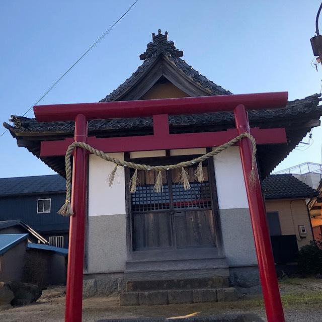
[[(179, 148), (198, 148), (218, 146), (236, 137), (236, 129), (220, 132), (164, 134), (165, 127), (160, 128), (156, 135), (96, 138), (90, 136), (87, 143), (106, 153), (166, 150)], [(252, 128), (257, 144), (287, 143), (284, 128), (259, 129)], [(65, 155), (67, 147), (74, 140), (68, 138), (60, 141), (42, 141), (40, 156)]]

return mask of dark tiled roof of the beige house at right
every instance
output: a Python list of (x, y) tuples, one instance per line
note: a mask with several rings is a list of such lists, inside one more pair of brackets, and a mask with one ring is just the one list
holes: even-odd
[(262, 183), (265, 199), (311, 198), (317, 191), (290, 174), (270, 175)]

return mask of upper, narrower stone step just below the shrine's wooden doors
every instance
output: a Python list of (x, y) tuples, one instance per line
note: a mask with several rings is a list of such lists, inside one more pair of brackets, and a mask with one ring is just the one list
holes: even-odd
[(222, 288), (228, 287), (228, 277), (214, 276), (208, 278), (179, 278), (160, 280), (129, 280), (125, 282), (126, 292), (195, 289), (195, 288)]

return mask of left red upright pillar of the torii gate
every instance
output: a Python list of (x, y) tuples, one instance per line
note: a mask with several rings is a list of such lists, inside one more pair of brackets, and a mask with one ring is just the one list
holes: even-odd
[[(78, 114), (75, 118), (74, 140), (86, 142), (87, 135), (87, 119)], [(65, 322), (82, 322), (86, 188), (87, 153), (84, 149), (76, 147), (72, 172), (71, 206), (74, 214), (69, 224)]]

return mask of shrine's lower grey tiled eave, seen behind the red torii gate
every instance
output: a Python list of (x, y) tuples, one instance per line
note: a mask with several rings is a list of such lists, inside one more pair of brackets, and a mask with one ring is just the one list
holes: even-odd
[[(290, 101), (286, 107), (274, 110), (250, 110), (248, 111), (251, 125), (258, 126), (260, 122), (278, 121), (285, 117), (292, 118), (308, 113), (316, 112), (322, 114), (322, 109), (318, 105), (320, 94), (313, 94), (304, 99)], [(14, 126), (7, 124), (10, 131), (24, 135), (32, 133), (38, 135), (64, 133), (72, 135), (74, 132), (74, 122), (37, 122), (35, 118), (12, 115), (11, 121)], [(232, 112), (214, 112), (191, 115), (169, 115), (170, 126), (187, 125), (218, 125), (233, 124), (234, 117)], [(113, 130), (129, 130), (140, 128), (152, 128), (152, 117), (122, 118), (90, 120), (88, 124), (89, 133), (106, 132)]]

